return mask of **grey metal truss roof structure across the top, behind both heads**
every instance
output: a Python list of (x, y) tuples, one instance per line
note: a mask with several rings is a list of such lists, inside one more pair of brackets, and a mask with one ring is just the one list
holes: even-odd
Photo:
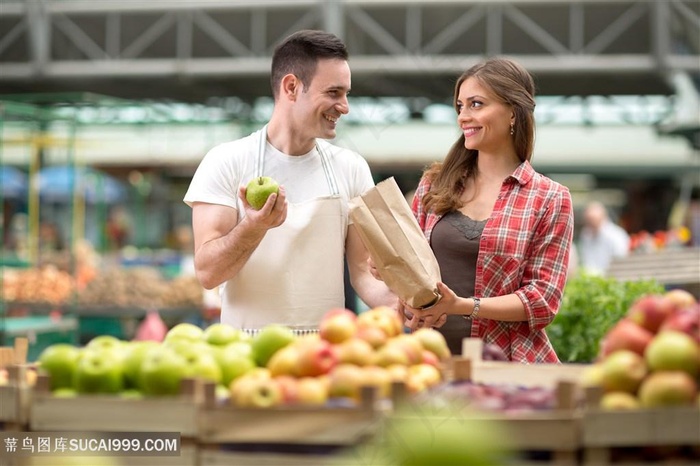
[(670, 74), (700, 75), (698, 0), (0, 0), (0, 94), (253, 101), (303, 28), (345, 40), (353, 95), (419, 105), (490, 55), (541, 95), (669, 95)]

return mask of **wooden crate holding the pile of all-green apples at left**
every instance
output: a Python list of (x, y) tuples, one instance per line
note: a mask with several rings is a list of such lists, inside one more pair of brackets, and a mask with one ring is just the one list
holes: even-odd
[(183, 381), (179, 396), (141, 399), (114, 395), (79, 395), (58, 398), (49, 379), (40, 375), (32, 398), (29, 427), (33, 431), (180, 432), (197, 435), (198, 384)]

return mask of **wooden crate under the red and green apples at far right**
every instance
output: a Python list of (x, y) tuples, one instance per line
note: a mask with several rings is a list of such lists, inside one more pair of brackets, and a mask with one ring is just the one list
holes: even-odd
[[(613, 449), (690, 446), (700, 454), (700, 408), (667, 407), (629, 411), (598, 409), (600, 390), (587, 391), (582, 419), (584, 463), (610, 464)], [(700, 457), (693, 461), (700, 463)]]

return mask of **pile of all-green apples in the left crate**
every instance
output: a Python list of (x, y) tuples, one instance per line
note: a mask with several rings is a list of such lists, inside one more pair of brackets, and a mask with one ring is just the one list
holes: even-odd
[(100, 335), (83, 347), (54, 344), (41, 352), (37, 367), (50, 376), (55, 396), (138, 398), (177, 395), (186, 378), (214, 382), (227, 393), (228, 385), (256, 364), (246, 333), (220, 323), (205, 329), (180, 323), (162, 342)]

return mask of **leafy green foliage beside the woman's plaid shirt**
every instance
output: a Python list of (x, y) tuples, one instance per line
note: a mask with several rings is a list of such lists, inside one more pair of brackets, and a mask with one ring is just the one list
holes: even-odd
[(547, 335), (561, 362), (590, 363), (605, 334), (645, 294), (665, 292), (655, 280), (622, 282), (580, 272), (564, 288), (559, 313)]

